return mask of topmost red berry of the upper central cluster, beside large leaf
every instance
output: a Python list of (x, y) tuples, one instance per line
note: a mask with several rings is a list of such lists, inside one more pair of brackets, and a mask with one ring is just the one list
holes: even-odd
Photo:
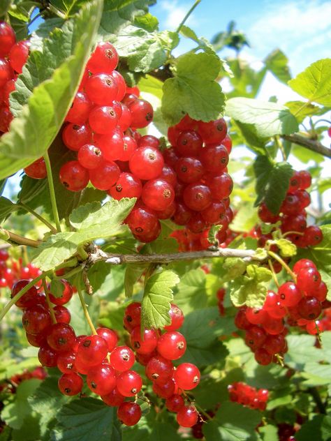
[(119, 56), (117, 50), (109, 41), (101, 41), (96, 45), (94, 52), (87, 63), (91, 73), (112, 73), (117, 67)]

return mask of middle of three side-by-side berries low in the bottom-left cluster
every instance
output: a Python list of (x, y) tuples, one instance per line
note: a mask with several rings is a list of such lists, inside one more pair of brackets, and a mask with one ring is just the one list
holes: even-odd
[(91, 367), (87, 374), (87, 386), (95, 394), (109, 394), (116, 386), (115, 370), (108, 363)]

